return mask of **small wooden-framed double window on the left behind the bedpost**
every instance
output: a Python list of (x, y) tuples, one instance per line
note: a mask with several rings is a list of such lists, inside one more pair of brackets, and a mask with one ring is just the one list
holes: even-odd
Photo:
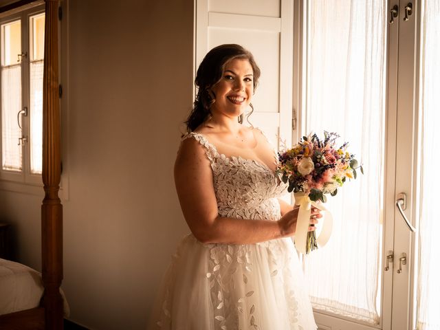
[(0, 18), (0, 179), (41, 184), (44, 7)]

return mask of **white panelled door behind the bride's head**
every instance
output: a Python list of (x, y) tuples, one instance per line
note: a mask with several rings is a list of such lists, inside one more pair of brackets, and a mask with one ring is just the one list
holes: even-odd
[[(289, 0), (197, 0), (196, 65), (223, 43), (250, 50), (261, 69), (249, 122), (279, 146), (292, 143), (293, 3)], [(245, 120), (245, 124), (249, 124)]]

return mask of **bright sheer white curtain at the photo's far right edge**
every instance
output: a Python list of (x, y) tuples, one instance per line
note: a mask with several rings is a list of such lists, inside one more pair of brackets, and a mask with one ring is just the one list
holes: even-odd
[(440, 329), (440, 232), (438, 187), (440, 177), (440, 0), (421, 1), (419, 111), (421, 115), (421, 193), (419, 215), (419, 281), (417, 330)]

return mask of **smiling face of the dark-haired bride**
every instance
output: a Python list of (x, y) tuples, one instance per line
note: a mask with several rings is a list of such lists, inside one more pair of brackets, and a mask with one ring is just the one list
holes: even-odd
[(249, 61), (235, 58), (225, 65), (219, 83), (211, 88), (215, 94), (211, 113), (237, 117), (249, 106), (254, 94), (254, 75)]

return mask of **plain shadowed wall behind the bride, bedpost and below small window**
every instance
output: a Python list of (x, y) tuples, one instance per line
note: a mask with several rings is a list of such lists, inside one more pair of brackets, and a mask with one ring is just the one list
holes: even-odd
[[(67, 20), (63, 289), (74, 322), (144, 329), (188, 232), (173, 163), (192, 103), (193, 2), (70, 0)], [(0, 191), (15, 254), (39, 270), (40, 207)]]

